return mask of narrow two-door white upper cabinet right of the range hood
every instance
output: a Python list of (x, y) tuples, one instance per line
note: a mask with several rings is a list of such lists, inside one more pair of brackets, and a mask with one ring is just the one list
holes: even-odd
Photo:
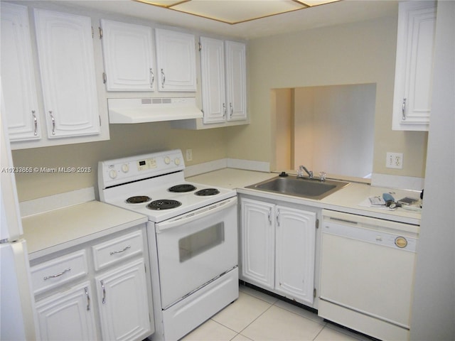
[(245, 44), (200, 37), (205, 124), (247, 119)]

